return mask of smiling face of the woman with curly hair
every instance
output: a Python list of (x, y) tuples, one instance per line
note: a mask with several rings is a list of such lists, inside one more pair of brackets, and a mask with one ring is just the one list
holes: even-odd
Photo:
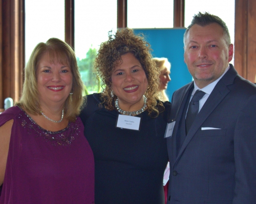
[(133, 106), (138, 110), (143, 106), (143, 94), (148, 86), (145, 71), (131, 53), (122, 55), (121, 60), (122, 64), (112, 72), (112, 89), (121, 109)]

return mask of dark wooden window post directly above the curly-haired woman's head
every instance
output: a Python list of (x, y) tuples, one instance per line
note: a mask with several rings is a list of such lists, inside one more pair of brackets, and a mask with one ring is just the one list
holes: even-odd
[(127, 0), (117, 0), (117, 28), (127, 27)]

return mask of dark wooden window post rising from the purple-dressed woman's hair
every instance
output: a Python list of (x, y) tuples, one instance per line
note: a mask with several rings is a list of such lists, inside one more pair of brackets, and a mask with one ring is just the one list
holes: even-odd
[(65, 41), (75, 47), (75, 15), (74, 0), (65, 0)]

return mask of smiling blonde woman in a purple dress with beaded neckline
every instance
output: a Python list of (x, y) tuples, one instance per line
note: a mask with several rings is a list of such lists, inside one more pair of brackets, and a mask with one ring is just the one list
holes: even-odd
[(0, 203), (94, 203), (94, 157), (79, 117), (73, 49), (51, 38), (25, 68), (20, 101), (0, 114)]

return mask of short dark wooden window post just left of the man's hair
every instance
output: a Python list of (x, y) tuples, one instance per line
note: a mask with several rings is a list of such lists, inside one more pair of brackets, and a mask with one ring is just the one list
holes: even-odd
[(174, 28), (184, 27), (185, 0), (174, 0)]

